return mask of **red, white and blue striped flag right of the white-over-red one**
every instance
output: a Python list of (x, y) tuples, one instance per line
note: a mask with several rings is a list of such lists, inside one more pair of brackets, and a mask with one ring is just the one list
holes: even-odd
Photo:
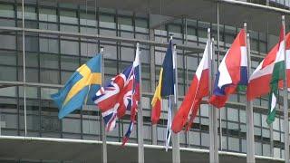
[(228, 96), (247, 86), (246, 34), (242, 29), (218, 67), (213, 95), (209, 103), (217, 108), (225, 106)]

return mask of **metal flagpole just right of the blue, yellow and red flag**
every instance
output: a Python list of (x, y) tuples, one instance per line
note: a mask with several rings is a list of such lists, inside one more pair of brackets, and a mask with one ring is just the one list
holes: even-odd
[[(172, 39), (172, 38), (171, 38)], [(176, 44), (173, 45), (173, 68), (175, 68), (175, 83), (174, 83), (174, 105), (172, 107), (171, 120), (178, 111), (178, 53), (176, 51)], [(179, 150), (179, 133), (172, 132), (172, 162), (180, 162), (180, 150)]]

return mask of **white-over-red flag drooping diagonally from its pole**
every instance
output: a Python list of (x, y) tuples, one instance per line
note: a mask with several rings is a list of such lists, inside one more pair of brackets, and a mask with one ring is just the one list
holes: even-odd
[(190, 128), (198, 113), (199, 104), (202, 101), (202, 98), (208, 96), (208, 57), (210, 57), (210, 59), (212, 57), (212, 54), (208, 53), (208, 48), (211, 49), (210, 47), (211, 46), (207, 43), (203, 57), (198, 65), (197, 72), (190, 84), (189, 91), (184, 97), (184, 100), (182, 101), (180, 108), (173, 119), (171, 129), (175, 133), (182, 130), (187, 123), (187, 129)]

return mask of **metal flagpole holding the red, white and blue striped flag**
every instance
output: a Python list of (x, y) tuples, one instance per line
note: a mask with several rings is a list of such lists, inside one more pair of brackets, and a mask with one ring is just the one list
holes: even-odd
[[(247, 23), (244, 23), (247, 41), (247, 78), (251, 75), (251, 49), (250, 37), (247, 33)], [(254, 112), (253, 101), (247, 101), (247, 162), (255, 163), (255, 139), (254, 139)]]

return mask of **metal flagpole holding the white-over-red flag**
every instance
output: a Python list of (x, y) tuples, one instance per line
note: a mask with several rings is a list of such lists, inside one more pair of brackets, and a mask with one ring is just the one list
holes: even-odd
[[(211, 44), (211, 39), (210, 39), (210, 28), (208, 28), (208, 67), (209, 67), (209, 72), (208, 72), (208, 97), (212, 95), (213, 88), (212, 88), (212, 81), (214, 76), (214, 67), (213, 67), (213, 62), (212, 62), (212, 57), (213, 57), (213, 44)], [(208, 110), (209, 110), (209, 162), (210, 163), (218, 163), (218, 128), (217, 128), (217, 112), (215, 108), (208, 104)], [(215, 129), (217, 128), (217, 129)], [(217, 133), (216, 133), (217, 132)], [(216, 139), (215, 139), (216, 138)]]

